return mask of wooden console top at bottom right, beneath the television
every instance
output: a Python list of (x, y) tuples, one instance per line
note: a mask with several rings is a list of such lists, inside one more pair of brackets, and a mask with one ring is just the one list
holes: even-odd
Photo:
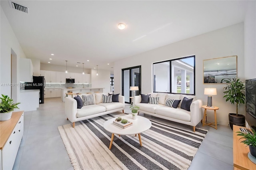
[[(240, 126), (233, 125), (233, 163), (234, 167), (240, 170), (256, 170), (256, 164), (254, 164), (248, 158), (249, 146), (246, 144), (241, 143), (242, 136), (237, 136), (240, 132)], [(245, 127), (241, 127), (245, 128)], [(240, 139), (240, 140), (239, 140)]]

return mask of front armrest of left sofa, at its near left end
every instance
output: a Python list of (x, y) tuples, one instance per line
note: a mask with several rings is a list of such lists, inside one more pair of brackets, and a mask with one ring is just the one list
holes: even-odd
[(76, 121), (77, 102), (72, 97), (65, 98), (65, 114), (70, 122)]

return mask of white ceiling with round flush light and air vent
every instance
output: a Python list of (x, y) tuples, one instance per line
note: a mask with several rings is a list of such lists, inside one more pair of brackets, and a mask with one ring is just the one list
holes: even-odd
[[(110, 69), (113, 62), (244, 21), (248, 1), (14, 0), (1, 6), (28, 58)], [(126, 28), (119, 30), (117, 24)], [(2, 34), (2, 33), (1, 33)], [(54, 53), (54, 56), (51, 55)], [(52, 58), (52, 60), (49, 60)], [(89, 62), (87, 60), (90, 60)], [(110, 63), (110, 65), (107, 65)], [(79, 65), (82, 67), (82, 64)], [(111, 69), (110, 69), (111, 70)]]

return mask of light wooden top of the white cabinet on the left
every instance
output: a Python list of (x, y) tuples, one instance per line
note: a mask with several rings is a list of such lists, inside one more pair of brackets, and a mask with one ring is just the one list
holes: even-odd
[(13, 112), (11, 119), (8, 121), (0, 121), (0, 149), (3, 149), (22, 114), (23, 111)]

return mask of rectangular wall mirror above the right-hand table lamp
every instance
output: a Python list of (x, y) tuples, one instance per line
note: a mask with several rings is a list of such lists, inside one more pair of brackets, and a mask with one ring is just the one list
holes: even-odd
[(237, 55), (204, 60), (204, 83), (222, 83), (222, 79), (235, 78)]

